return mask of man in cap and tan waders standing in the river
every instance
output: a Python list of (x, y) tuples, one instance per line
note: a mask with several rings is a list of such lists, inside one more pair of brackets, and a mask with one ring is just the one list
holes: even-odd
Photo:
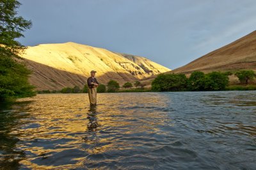
[(87, 79), (88, 84), (88, 95), (91, 105), (96, 105), (97, 103), (97, 87), (99, 86), (99, 82), (95, 78), (95, 70), (91, 71), (91, 77)]

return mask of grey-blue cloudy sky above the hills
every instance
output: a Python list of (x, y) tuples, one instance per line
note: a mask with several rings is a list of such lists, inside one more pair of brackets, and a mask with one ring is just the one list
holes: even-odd
[(170, 69), (255, 31), (255, 0), (20, 0), (23, 45), (76, 42)]

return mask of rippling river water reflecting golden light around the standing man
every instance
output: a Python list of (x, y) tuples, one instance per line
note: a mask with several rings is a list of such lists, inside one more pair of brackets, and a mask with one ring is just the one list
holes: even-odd
[[(3, 169), (255, 169), (256, 91), (49, 94), (1, 105)], [(1, 168), (0, 168), (1, 169)]]

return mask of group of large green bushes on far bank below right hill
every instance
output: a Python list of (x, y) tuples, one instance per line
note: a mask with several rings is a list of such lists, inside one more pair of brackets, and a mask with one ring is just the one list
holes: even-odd
[(256, 85), (249, 84), (256, 77), (252, 70), (240, 70), (234, 75), (240, 84), (228, 86), (228, 76), (232, 72), (204, 73), (195, 71), (189, 77), (184, 73), (159, 74), (152, 82), (152, 91), (220, 91), (253, 90)]

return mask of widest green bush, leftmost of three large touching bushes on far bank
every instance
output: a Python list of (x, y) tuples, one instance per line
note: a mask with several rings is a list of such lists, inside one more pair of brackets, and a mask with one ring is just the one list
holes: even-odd
[(183, 73), (159, 74), (152, 82), (152, 91), (184, 91), (188, 79)]

